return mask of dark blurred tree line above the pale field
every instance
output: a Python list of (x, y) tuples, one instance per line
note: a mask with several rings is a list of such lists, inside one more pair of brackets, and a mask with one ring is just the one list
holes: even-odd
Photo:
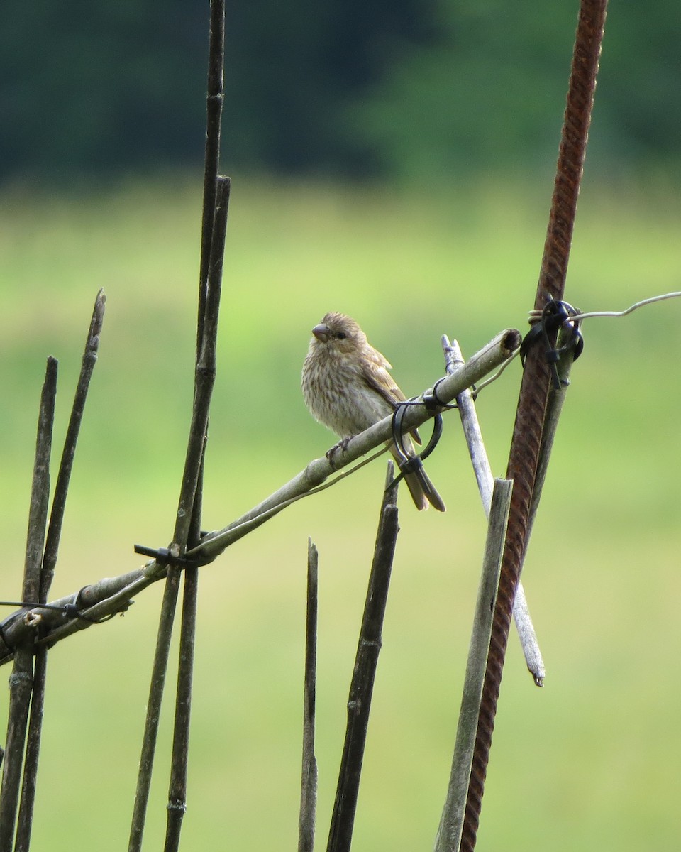
[[(0, 163), (72, 176), (203, 156), (208, 0), (4, 0)], [(229, 3), (229, 169), (466, 176), (555, 161), (577, 0)], [(681, 144), (678, 0), (612, 2), (590, 158)]]

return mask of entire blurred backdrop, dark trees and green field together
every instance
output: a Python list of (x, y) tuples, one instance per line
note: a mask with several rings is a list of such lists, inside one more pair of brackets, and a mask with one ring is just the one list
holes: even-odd
[[(324, 4), (285, 21), (268, 6), (260, 26), (232, 20), (224, 168), (233, 188), (205, 527), (225, 526), (334, 442), (300, 395), (310, 329), (327, 310), (360, 322), (407, 394), (443, 374), (442, 333), (470, 355), (507, 326), (526, 329), (572, 5), (545, 10), (543, 23), (524, 4), (517, 20), (495, 3), (433, 5), (417, 26), (415, 10), (397, 4), (390, 27), (377, 9), (373, 29), (360, 16), (366, 43), (340, 67), (318, 46), (329, 32), (358, 29), (352, 4), (344, 22)], [(3, 151), (0, 192), (0, 535), (10, 599), (20, 590), (45, 358), (60, 360), (58, 452), (100, 287), (100, 360), (53, 596), (137, 567), (134, 542), (171, 537), (192, 401), (206, 13), (198, 20), (171, 4), (159, 30), (148, 10), (141, 25), (135, 3), (117, 4), (117, 27), (96, 23), (101, 9), (88, 7), (78, 26), (63, 19), (65, 43), (46, 6), (14, 6), (14, 30), (2, 28), (14, 53), (3, 49), (3, 61), (16, 71), (4, 75), (5, 95), (19, 94), (6, 102), (14, 147)], [(312, 7), (325, 10), (326, 30)], [(679, 23), (670, 4), (640, 14), (633, 4), (610, 9), (566, 289), (583, 309), (679, 289)], [(165, 64), (146, 60), (152, 34), (163, 42), (169, 31), (183, 34), (184, 49), (175, 43)], [(355, 32), (349, 43), (359, 42)], [(29, 43), (39, 62), (31, 50), (16, 58)], [(326, 77), (312, 72), (311, 45)], [(68, 76), (61, 63), (74, 55), (84, 64)], [(368, 69), (367, 56), (381, 62)], [(98, 78), (93, 67), (117, 72)], [(121, 79), (156, 112), (113, 98), (108, 87)], [(300, 90), (301, 79), (321, 89)], [(79, 81), (99, 82), (100, 101), (77, 97)], [(26, 96), (37, 92), (44, 101)], [(678, 849), (680, 310), (672, 300), (585, 324), (524, 573), (547, 681), (533, 686), (512, 635), (480, 849)], [(506, 470), (519, 377), (516, 364), (478, 400), (496, 475)], [(484, 548), (455, 412), (427, 469), (448, 512), (419, 514), (400, 499), (358, 852), (431, 848), (449, 776)], [(383, 461), (372, 463), (202, 569), (187, 849), (295, 848), (308, 536), (320, 552), (325, 843), (384, 475)], [(160, 585), (146, 590), (123, 619), (50, 655), (37, 852), (125, 848), (160, 596)], [(172, 692), (170, 676), (149, 849), (165, 830)]]

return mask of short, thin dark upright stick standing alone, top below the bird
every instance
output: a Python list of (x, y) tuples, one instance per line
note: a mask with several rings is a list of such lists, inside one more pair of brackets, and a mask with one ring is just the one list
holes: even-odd
[(314, 756), (317, 678), (318, 554), (307, 541), (307, 611), (305, 630), (305, 688), (303, 693), (303, 755), (300, 779), (298, 852), (312, 852), (317, 813), (317, 759)]

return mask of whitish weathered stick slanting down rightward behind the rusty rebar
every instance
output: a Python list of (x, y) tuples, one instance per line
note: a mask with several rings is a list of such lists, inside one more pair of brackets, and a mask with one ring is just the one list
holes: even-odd
[[(443, 335), (442, 344), (447, 362), (447, 371), (455, 370), (456, 366), (463, 364), (461, 348), (455, 340), (449, 343), (447, 335)], [(489, 507), (491, 505), (492, 488), (494, 487), (495, 480), (494, 475), (492, 475), (487, 452), (484, 448), (483, 435), (480, 430), (478, 414), (475, 410), (475, 402), (473, 401), (470, 389), (462, 391), (456, 397), (456, 406), (461, 415), (461, 426), (466, 436), (466, 444), (468, 445), (468, 452), (471, 456), (473, 471), (478, 481), (478, 490), (480, 498), (483, 501), (484, 513), (489, 518)], [(523, 646), (525, 663), (530, 674), (535, 679), (535, 684), (541, 687), (546, 676), (546, 670), (544, 668), (544, 661), (541, 659), (539, 642), (537, 642), (535, 628), (529, 615), (527, 599), (521, 583), (518, 583), (518, 591), (513, 602), (513, 620), (518, 630), (520, 644)]]

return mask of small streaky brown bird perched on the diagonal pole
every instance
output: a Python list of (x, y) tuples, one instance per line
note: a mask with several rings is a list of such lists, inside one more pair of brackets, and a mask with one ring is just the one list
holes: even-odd
[[(312, 329), (302, 372), (302, 389), (312, 417), (343, 440), (369, 429), (406, 399), (388, 370), (390, 362), (375, 349), (359, 325), (345, 314), (326, 314)], [(418, 433), (411, 433), (421, 443)], [(413, 446), (404, 440), (407, 452)], [(395, 445), (388, 445), (398, 460)], [(444, 503), (423, 468), (404, 477), (417, 509)]]

